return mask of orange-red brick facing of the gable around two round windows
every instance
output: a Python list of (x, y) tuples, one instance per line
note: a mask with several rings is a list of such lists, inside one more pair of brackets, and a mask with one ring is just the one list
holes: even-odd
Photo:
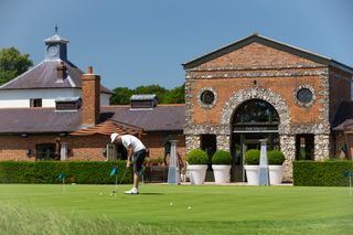
[[(228, 68), (217, 71), (214, 68)], [(322, 106), (318, 100), (322, 98), (324, 87), (319, 86), (319, 73), (325, 72), (325, 66), (312, 61), (279, 51), (259, 43), (253, 43), (218, 58), (206, 62), (191, 71), (191, 76), (199, 76), (192, 90), (194, 105), (194, 124), (218, 124), (224, 104), (229, 96), (239, 89), (254, 87), (254, 81), (259, 87), (266, 87), (285, 98), (290, 108), (292, 124), (321, 122), (318, 111)], [(205, 71), (206, 70), (206, 71)], [(234, 70), (234, 71), (232, 71)], [(311, 73), (306, 75), (304, 72)], [(225, 73), (236, 73), (236, 78), (221, 78)], [(290, 76), (253, 76), (254, 74), (301, 74)], [(200, 78), (200, 75), (211, 75), (213, 78)], [(220, 76), (217, 78), (217, 76)], [(242, 77), (244, 76), (244, 77)], [(315, 102), (309, 108), (296, 105), (295, 90), (299, 85), (310, 85), (315, 90)], [(197, 104), (197, 93), (203, 87), (212, 87), (217, 93), (217, 103), (212, 109), (204, 109)]]

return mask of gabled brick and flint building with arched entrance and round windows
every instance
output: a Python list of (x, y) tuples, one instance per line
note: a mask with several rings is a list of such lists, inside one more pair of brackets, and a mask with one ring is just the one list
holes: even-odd
[(352, 146), (344, 138), (353, 117), (345, 108), (353, 107), (350, 66), (253, 34), (183, 67), (186, 152), (229, 150), (233, 180), (242, 178), (244, 152), (264, 138), (284, 151), (288, 180), (293, 160), (323, 160)]

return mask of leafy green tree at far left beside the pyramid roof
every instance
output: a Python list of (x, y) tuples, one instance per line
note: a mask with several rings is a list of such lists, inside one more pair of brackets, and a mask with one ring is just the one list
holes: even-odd
[(15, 47), (0, 50), (0, 85), (13, 79), (33, 66), (29, 54), (21, 55)]

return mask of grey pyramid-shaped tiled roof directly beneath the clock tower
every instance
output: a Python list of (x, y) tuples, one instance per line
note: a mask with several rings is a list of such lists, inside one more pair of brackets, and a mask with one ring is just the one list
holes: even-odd
[[(67, 78), (63, 79), (61, 83), (57, 82), (56, 74), (56, 68), (60, 62), (63, 62), (67, 68)], [(25, 72), (24, 74), (0, 86), (0, 90), (34, 88), (81, 88), (82, 75), (83, 72), (71, 62), (65, 62), (61, 60), (46, 60), (36, 65), (35, 67), (31, 68), (30, 71)], [(104, 86), (100, 86), (100, 89), (103, 93), (111, 93)]]

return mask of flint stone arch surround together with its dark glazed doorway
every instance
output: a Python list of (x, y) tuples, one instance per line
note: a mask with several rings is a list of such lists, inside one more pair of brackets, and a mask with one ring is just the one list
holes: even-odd
[[(253, 113), (256, 113), (256, 109), (259, 113), (257, 115), (247, 114), (248, 117), (246, 118), (248, 120), (244, 120), (245, 106), (252, 106)], [(260, 117), (261, 111), (264, 117)], [(296, 146), (293, 137), (288, 136), (290, 132), (289, 107), (280, 95), (264, 87), (240, 89), (234, 93), (223, 106), (221, 122), (222, 125), (228, 125), (231, 130), (223, 139), (227, 140), (227, 150), (231, 150), (235, 159), (233, 181), (244, 178), (242, 167), (244, 150), (256, 148), (256, 142), (263, 138), (269, 139), (270, 148), (279, 147), (284, 151), (287, 158), (286, 171), (287, 174), (291, 174), (291, 162), (295, 159)], [(218, 136), (218, 138), (222, 137)], [(220, 141), (217, 148), (222, 149), (224, 145)]]

